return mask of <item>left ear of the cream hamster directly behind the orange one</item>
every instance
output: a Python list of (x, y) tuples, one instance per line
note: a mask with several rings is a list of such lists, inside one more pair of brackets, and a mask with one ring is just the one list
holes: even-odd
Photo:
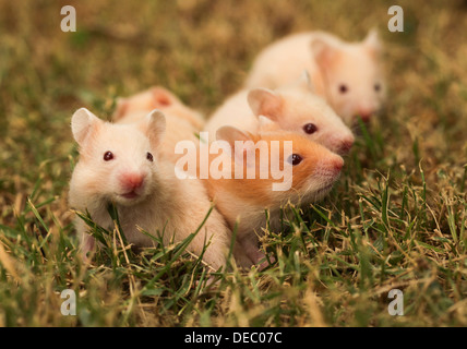
[(248, 103), (253, 113), (265, 116), (277, 121), (283, 109), (283, 98), (274, 91), (267, 88), (254, 88), (248, 94)]

